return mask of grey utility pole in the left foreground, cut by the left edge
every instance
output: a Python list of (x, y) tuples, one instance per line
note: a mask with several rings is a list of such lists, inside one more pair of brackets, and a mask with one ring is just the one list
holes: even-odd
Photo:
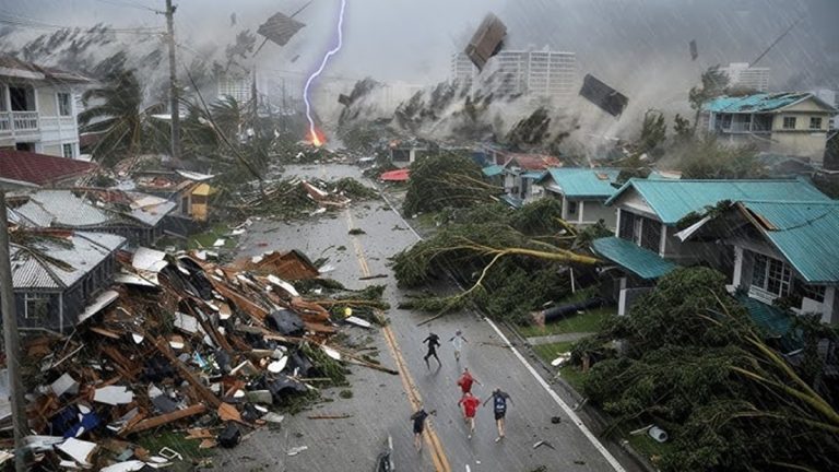
[(5, 368), (9, 373), (9, 400), (12, 406), (12, 427), (14, 428), (14, 470), (24, 472), (26, 471), (26, 455), (23, 452), (23, 438), (28, 435), (29, 428), (26, 420), (26, 408), (23, 402), (21, 340), (14, 306), (12, 264), (9, 257), (9, 221), (7, 217), (5, 191), (0, 189), (0, 309), (3, 312), (3, 350), (5, 352)]

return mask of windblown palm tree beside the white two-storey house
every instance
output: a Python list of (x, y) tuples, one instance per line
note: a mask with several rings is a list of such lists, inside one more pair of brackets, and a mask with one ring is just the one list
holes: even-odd
[(164, 106), (144, 107), (143, 88), (132, 71), (108, 74), (105, 86), (86, 91), (82, 101), (85, 106), (95, 103), (79, 114), (79, 125), (82, 132), (101, 135), (93, 155), (103, 165), (110, 167), (121, 158), (161, 150), (165, 142), (168, 125), (162, 126), (152, 118)]

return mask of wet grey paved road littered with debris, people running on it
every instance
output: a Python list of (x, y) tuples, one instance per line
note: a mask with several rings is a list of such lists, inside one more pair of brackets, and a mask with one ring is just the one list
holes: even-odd
[[(326, 178), (359, 177), (358, 169), (348, 166), (308, 166), (292, 169), (298, 175)], [(347, 231), (362, 228), (366, 234), (351, 236)], [(352, 399), (339, 399), (338, 391), (324, 391), (334, 401), (315, 408), (317, 414), (352, 414), (346, 420), (308, 420), (307, 412), (286, 418), (279, 432), (258, 430), (232, 451), (221, 451), (216, 467), (232, 470), (277, 471), (373, 471), (375, 459), (388, 435), (393, 438), (397, 470), (401, 471), (498, 471), (530, 472), (541, 465), (546, 471), (636, 471), (614, 445), (605, 447), (576, 424), (564, 409), (560, 398), (536, 377), (524, 358), (510, 349), (491, 322), (475, 314), (451, 314), (425, 327), (417, 322), (426, 314), (397, 309), (404, 295), (395, 286), (388, 268), (388, 258), (410, 247), (416, 236), (405, 227), (400, 216), (383, 202), (356, 204), (338, 217), (317, 219), (282, 224), (259, 222), (243, 239), (244, 255), (269, 249), (298, 248), (312, 258), (329, 257), (335, 270), (331, 278), (350, 287), (363, 287), (358, 281), (369, 274), (388, 274), (374, 283), (387, 284), (385, 296), (394, 307), (388, 312), (388, 329), (364, 331), (350, 328), (351, 338), (371, 338), (381, 362), (400, 369), (392, 376), (363, 367), (353, 367)], [(268, 244), (261, 246), (260, 244)], [(341, 248), (343, 246), (343, 248)], [(421, 341), (429, 331), (448, 340), (458, 329), (463, 330), (466, 344), (460, 365), (451, 347), (444, 342), (440, 350), (442, 367), (426, 368)], [(462, 366), (484, 384), (473, 391), (484, 400), (494, 387), (512, 397), (508, 411), (507, 439), (497, 436), (491, 404), (478, 410), (477, 433), (471, 440), (460, 416), (460, 398), (456, 379)], [(424, 449), (413, 449), (409, 416), (417, 402), (426, 410), (437, 410), (430, 420), (430, 432), (424, 438)], [(560, 416), (552, 424), (551, 416)], [(550, 441), (555, 449), (540, 447), (539, 440)], [(308, 446), (294, 457), (287, 450)], [(613, 456), (614, 455), (614, 456)], [(616, 459), (615, 459), (616, 458)], [(619, 463), (618, 463), (619, 461)]]

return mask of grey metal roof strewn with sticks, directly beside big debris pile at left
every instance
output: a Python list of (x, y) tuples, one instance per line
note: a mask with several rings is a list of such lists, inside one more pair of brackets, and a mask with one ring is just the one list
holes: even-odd
[[(23, 246), (10, 244), (9, 259), (14, 288), (68, 288), (125, 243), (122, 236), (75, 232), (68, 234), (63, 244), (45, 238), (28, 245), (39, 255)], [(70, 270), (59, 267), (52, 260), (63, 262)]]

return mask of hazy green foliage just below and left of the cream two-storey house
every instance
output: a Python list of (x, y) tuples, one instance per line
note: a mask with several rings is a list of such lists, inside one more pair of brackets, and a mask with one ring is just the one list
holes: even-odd
[(757, 148), (724, 145), (710, 134), (686, 143), (676, 154), (680, 155), (677, 168), (682, 170), (683, 178), (744, 179), (763, 176), (757, 162)]

